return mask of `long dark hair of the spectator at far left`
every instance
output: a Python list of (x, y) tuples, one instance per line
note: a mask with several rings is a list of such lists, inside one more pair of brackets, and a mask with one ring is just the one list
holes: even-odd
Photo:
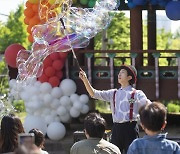
[(1, 121), (1, 152), (13, 152), (18, 147), (18, 134), (24, 133), (21, 120), (13, 114), (5, 115)]

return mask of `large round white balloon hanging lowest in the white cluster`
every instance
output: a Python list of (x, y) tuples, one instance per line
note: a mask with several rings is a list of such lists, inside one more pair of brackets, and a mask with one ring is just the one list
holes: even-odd
[(62, 139), (66, 134), (66, 128), (60, 122), (52, 122), (47, 128), (47, 136), (51, 140), (58, 141)]

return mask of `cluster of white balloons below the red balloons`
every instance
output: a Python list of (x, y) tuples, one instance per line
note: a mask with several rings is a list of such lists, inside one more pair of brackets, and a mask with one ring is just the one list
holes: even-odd
[[(62, 139), (66, 132), (63, 123), (69, 123), (72, 117), (77, 118), (89, 111), (89, 97), (75, 93), (77, 87), (73, 80), (64, 79), (59, 87), (54, 88), (36, 79), (31, 83), (25, 87), (15, 79), (9, 83), (11, 96), (25, 102), (27, 117), (24, 127), (27, 132), (38, 128), (52, 140)], [(19, 98), (17, 87), (20, 89)]]

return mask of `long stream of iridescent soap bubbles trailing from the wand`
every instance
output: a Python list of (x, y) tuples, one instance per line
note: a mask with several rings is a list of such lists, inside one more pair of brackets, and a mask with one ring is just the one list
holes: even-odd
[[(45, 3), (42, 6), (43, 2), (40, 0), (40, 18), (44, 18), (41, 9), (46, 8)], [(39, 77), (43, 60), (53, 52), (85, 48), (91, 38), (107, 28), (113, 17), (111, 11), (118, 8), (117, 0), (99, 0), (93, 8), (84, 9), (71, 7), (71, 1), (51, 0), (51, 3), (58, 6), (54, 8), (59, 14), (54, 18), (47, 17), (45, 24), (35, 25), (31, 30), (34, 39), (32, 51), (21, 50), (17, 55), (19, 81)]]

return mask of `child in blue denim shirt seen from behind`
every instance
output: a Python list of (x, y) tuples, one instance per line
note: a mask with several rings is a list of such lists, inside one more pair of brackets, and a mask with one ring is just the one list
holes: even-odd
[(141, 126), (147, 135), (135, 139), (127, 154), (180, 154), (178, 143), (166, 139), (167, 133), (161, 133), (167, 123), (167, 111), (163, 104), (147, 104), (140, 108), (139, 114)]

